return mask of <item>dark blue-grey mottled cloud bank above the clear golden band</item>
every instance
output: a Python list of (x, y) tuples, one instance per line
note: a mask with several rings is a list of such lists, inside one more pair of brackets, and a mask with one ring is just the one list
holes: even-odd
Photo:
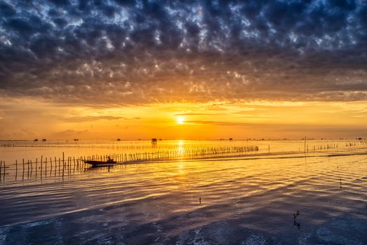
[(367, 1), (0, 1), (0, 93), (367, 99)]

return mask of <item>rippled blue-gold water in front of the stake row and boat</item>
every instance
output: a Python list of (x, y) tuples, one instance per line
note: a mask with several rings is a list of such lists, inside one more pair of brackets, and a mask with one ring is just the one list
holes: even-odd
[(367, 244), (366, 155), (296, 156), (8, 178), (0, 244)]

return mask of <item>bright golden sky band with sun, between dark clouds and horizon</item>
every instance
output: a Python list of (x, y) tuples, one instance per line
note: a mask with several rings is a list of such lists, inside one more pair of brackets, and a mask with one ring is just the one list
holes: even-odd
[(1, 139), (366, 137), (366, 102), (211, 102), (60, 106), (1, 103)]

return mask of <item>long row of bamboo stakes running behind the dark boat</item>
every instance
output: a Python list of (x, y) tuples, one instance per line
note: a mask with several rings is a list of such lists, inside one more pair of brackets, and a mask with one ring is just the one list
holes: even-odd
[[(29, 179), (35, 176), (36, 179), (47, 178), (48, 176), (69, 175), (71, 172), (85, 170), (90, 165), (85, 164), (85, 160), (106, 161), (109, 158), (117, 161), (119, 164), (129, 164), (137, 162), (157, 162), (169, 160), (184, 160), (193, 158), (210, 157), (211, 155), (228, 155), (233, 153), (247, 153), (258, 151), (258, 146), (230, 146), (230, 147), (198, 147), (190, 149), (176, 149), (176, 151), (155, 151), (153, 153), (120, 153), (111, 155), (90, 155), (79, 158), (36, 158), (36, 160), (24, 160), (11, 165), (6, 165), (5, 161), (0, 161), (0, 180), (4, 181), (6, 172), (15, 172), (15, 181), (18, 179)], [(19, 176), (18, 176), (19, 174)]]

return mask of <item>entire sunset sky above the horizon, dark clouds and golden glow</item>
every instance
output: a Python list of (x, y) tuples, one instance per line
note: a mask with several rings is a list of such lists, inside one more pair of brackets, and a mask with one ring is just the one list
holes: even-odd
[(1, 1), (0, 139), (367, 137), (367, 1)]

